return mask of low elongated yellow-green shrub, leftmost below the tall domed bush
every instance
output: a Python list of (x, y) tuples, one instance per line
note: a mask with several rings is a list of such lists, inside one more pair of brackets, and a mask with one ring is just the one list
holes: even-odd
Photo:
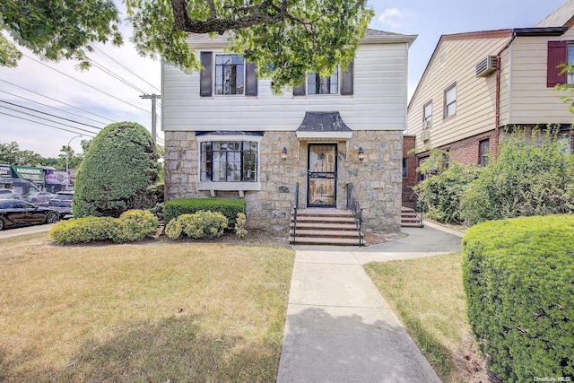
[(111, 217), (72, 218), (58, 222), (49, 235), (60, 245), (107, 240), (116, 230), (116, 221)]

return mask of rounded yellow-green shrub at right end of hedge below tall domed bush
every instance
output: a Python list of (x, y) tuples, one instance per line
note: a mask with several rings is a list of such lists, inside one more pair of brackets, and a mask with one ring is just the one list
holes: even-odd
[(117, 243), (134, 242), (152, 237), (158, 228), (158, 219), (146, 210), (128, 210), (116, 221), (111, 239)]

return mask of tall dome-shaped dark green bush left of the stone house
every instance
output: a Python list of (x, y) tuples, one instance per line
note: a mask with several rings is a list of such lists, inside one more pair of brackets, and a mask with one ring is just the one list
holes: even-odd
[(145, 206), (160, 164), (152, 135), (141, 125), (106, 126), (90, 146), (75, 180), (74, 216), (112, 216)]

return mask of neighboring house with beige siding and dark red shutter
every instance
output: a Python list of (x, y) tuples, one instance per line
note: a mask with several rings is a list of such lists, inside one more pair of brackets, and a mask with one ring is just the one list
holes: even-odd
[[(533, 28), (443, 35), (408, 106), (416, 155), (404, 162), (439, 148), (450, 161), (484, 165), (513, 126), (558, 124), (571, 150), (574, 115), (554, 85), (574, 83), (556, 67), (574, 63), (573, 16), (570, 0)], [(405, 169), (405, 184), (413, 171)]]

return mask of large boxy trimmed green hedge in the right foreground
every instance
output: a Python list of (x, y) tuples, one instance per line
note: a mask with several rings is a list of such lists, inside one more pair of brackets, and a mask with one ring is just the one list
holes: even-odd
[(474, 335), (500, 379), (574, 376), (574, 216), (474, 226), (463, 283)]

